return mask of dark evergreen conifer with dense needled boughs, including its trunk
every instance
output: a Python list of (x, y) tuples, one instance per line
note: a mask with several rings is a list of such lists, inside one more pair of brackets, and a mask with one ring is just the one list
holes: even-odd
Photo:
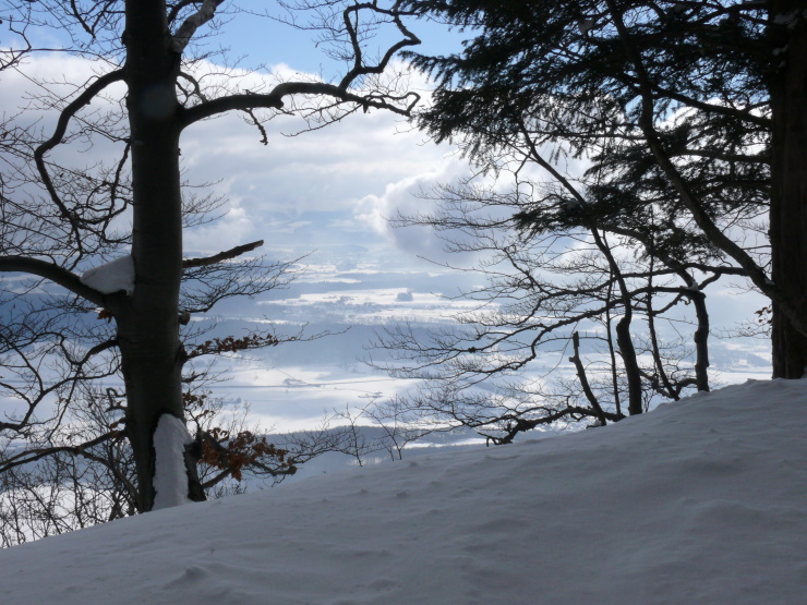
[[(455, 55), (412, 55), (436, 81), (419, 124), (483, 167), (515, 149), (557, 185), (554, 195), (523, 194), (511, 215), (521, 233), (593, 227), (652, 242), (661, 264), (742, 273), (772, 303), (773, 376), (803, 376), (802, 2), (406, 5), (471, 32)], [(558, 169), (564, 157), (587, 162), (580, 181)]]

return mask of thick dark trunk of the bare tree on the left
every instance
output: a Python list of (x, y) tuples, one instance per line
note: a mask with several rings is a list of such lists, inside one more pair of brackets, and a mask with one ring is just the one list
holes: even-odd
[[(161, 0), (127, 2), (125, 82), (132, 142), (135, 288), (116, 312), (127, 386), (127, 432), (137, 469), (138, 508), (154, 506), (154, 432), (162, 414), (184, 421), (179, 339), (182, 204), (179, 169), (179, 56), (170, 50)], [(195, 464), (189, 498), (204, 499)]]

